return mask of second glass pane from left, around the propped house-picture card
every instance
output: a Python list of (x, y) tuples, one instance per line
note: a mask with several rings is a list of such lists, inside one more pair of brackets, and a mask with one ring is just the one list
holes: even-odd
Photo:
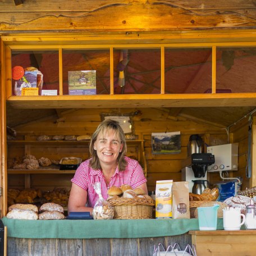
[(68, 94), (68, 71), (82, 70), (96, 71), (96, 94), (110, 93), (109, 49), (63, 51), (62, 61), (64, 95)]

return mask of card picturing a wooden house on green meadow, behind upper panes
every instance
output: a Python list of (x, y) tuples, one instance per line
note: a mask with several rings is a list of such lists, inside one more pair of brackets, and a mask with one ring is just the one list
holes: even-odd
[(96, 70), (68, 71), (68, 94), (96, 94)]

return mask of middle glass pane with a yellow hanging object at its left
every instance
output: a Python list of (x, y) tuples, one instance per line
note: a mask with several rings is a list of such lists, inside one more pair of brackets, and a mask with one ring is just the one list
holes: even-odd
[(161, 49), (115, 49), (114, 94), (161, 93)]

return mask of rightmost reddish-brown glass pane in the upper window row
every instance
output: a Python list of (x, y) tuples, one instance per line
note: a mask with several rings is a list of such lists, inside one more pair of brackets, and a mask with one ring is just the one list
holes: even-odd
[(256, 48), (217, 48), (216, 92), (256, 92)]

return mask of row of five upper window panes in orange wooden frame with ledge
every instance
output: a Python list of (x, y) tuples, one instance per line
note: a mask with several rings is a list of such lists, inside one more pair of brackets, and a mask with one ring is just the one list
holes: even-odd
[(252, 106), (256, 46), (6, 45), (6, 99), (20, 108)]

